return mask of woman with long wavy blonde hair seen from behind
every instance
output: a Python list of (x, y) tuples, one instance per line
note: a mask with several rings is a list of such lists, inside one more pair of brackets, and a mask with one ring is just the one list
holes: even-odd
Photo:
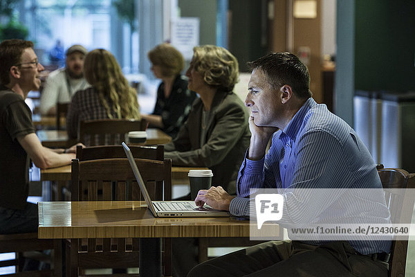
[(77, 137), (80, 121), (92, 119), (140, 118), (137, 93), (129, 87), (116, 58), (105, 49), (85, 57), (84, 75), (91, 87), (77, 91), (66, 116), (71, 139)]

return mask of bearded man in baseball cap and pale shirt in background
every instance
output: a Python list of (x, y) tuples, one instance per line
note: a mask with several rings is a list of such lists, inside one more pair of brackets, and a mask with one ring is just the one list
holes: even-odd
[(89, 87), (84, 78), (84, 58), (88, 51), (75, 44), (66, 51), (66, 67), (57, 69), (46, 79), (40, 100), (42, 114), (55, 115), (57, 102), (71, 102), (76, 91)]

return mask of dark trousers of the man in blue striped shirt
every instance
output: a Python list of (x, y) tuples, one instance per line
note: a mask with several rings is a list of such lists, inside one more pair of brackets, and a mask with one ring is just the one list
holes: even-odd
[(356, 253), (349, 242), (330, 242), (316, 247), (295, 241), (273, 241), (203, 262), (194, 267), (187, 276), (387, 275), (385, 262)]

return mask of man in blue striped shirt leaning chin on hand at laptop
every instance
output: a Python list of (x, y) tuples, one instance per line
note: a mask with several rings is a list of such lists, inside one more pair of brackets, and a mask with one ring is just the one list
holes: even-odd
[[(280, 226), (390, 223), (369, 151), (344, 120), (311, 98), (306, 66), (290, 53), (272, 53), (249, 65), (245, 103), (252, 136), (238, 195), (212, 187), (199, 191), (196, 204), (249, 216), (250, 189), (275, 188), (284, 197)], [(356, 194), (355, 188), (378, 190)], [(390, 246), (390, 240), (266, 242), (205, 262), (189, 276), (387, 276)]]

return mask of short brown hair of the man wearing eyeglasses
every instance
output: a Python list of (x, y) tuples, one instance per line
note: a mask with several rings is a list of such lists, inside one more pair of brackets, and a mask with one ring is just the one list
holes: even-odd
[(26, 48), (33, 48), (33, 42), (22, 39), (6, 39), (0, 44), (0, 83), (10, 82), (10, 67), (21, 62)]

